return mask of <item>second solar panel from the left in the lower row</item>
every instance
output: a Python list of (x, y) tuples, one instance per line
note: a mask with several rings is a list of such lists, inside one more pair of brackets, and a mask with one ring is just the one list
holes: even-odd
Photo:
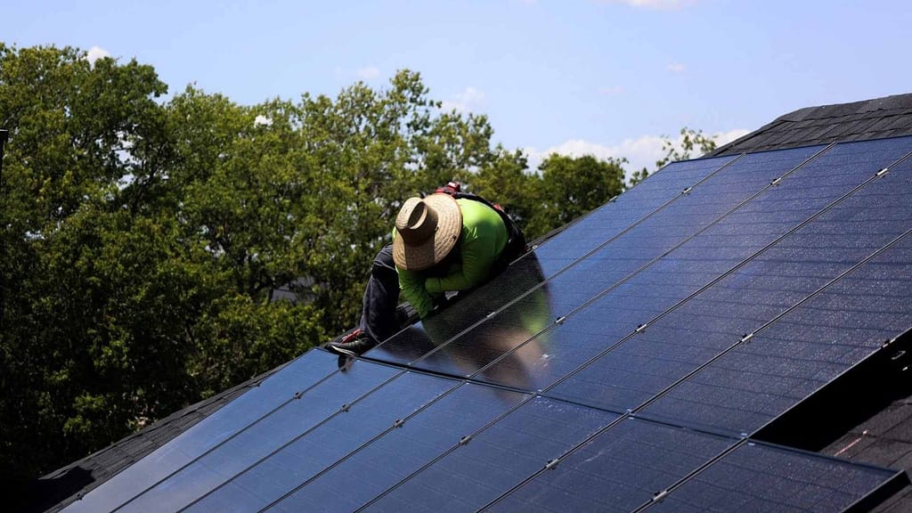
[[(335, 363), (330, 363), (335, 365)], [(345, 404), (354, 403), (399, 371), (359, 361), (217, 445), (191, 465), (127, 503), (119, 511), (177, 511), (248, 466), (306, 433)]]

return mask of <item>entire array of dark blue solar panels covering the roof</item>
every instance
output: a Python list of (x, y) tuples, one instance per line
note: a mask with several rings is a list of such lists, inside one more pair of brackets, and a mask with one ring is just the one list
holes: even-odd
[(65, 511), (844, 510), (751, 438), (912, 327), (912, 138), (676, 162), (347, 372), (310, 351)]

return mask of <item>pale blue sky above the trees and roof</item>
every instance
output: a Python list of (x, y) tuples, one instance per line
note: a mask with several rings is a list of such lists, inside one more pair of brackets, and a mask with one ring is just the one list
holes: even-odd
[(682, 126), (725, 141), (791, 110), (912, 92), (906, 1), (32, 0), (0, 40), (158, 71), (242, 104), (419, 71), (494, 140), (650, 168)]

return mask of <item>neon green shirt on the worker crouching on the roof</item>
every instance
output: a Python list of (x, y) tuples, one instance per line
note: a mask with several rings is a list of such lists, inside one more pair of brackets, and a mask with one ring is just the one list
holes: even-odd
[[(462, 232), (453, 251), (459, 252), (459, 258), (455, 261), (444, 259), (437, 266), (421, 271), (396, 267), (402, 295), (422, 318), (434, 308), (432, 297), (448, 290), (467, 290), (484, 283), (491, 276), (497, 257), (507, 246), (507, 227), (500, 214), (490, 206), (473, 200), (463, 198), (456, 203), (462, 213)], [(396, 230), (393, 232), (395, 236)]]

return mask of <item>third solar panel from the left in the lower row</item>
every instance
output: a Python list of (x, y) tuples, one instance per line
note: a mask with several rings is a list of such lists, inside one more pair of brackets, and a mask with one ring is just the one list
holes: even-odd
[(445, 393), (458, 382), (413, 372), (383, 385), (293, 443), (218, 487), (185, 511), (259, 511), (332, 466), (397, 420)]

